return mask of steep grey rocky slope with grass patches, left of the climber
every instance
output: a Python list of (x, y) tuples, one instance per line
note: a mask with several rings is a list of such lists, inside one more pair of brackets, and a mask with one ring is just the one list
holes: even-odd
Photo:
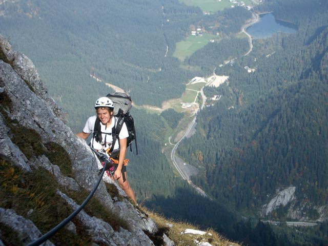
[[(9, 231), (26, 243), (78, 207), (81, 201), (74, 197), (83, 199), (93, 189), (99, 161), (60, 119), (64, 118), (61, 110), (29, 58), (13, 52), (2, 37), (0, 57), (1, 231), (12, 228)], [(112, 186), (119, 197), (122, 191), (116, 183)], [(55, 244), (63, 245), (62, 240), (75, 231), (77, 238), (102, 245), (153, 245), (144, 231), (157, 231), (154, 221), (135, 210), (124, 196), (113, 199), (107, 189), (101, 182), (92, 207), (54, 237)]]

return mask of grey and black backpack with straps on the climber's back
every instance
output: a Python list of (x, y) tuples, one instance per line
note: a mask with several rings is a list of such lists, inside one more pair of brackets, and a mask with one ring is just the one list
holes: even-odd
[[(108, 94), (106, 97), (110, 98), (114, 103), (114, 116), (116, 117), (116, 124), (112, 129), (113, 142), (110, 149), (110, 153), (113, 152), (114, 144), (117, 139), (119, 139), (119, 133), (121, 131), (122, 125), (125, 122), (129, 136), (127, 138), (127, 147), (130, 146), (130, 151), (132, 151), (131, 144), (135, 141), (136, 154), (138, 154), (137, 139), (134, 127), (134, 120), (130, 114), (130, 109), (132, 107), (132, 100), (126, 93), (115, 92), (114, 94)], [(101, 131), (100, 131), (100, 120), (96, 119), (94, 124), (93, 134), (96, 136), (96, 140), (101, 142)]]

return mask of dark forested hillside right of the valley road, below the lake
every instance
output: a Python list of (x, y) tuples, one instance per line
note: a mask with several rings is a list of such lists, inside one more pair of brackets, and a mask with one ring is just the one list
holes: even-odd
[[(277, 15), (291, 12), (288, 6), (279, 1)], [(289, 19), (298, 24), (296, 35), (273, 37), (269, 50), (258, 40), (249, 56), (216, 70), (230, 76), (229, 85), (207, 89), (222, 97), (199, 112), (197, 132), (203, 134), (179, 147), (187, 161), (202, 166), (193, 181), (238, 211), (259, 214), (277, 189), (295, 186), (296, 204), (274, 211), (272, 219), (288, 218), (292, 208), (316, 220), (315, 206), (328, 202), (328, 6), (321, 2), (306, 16), (302, 7), (293, 5)], [(243, 68), (250, 64), (254, 73)]]

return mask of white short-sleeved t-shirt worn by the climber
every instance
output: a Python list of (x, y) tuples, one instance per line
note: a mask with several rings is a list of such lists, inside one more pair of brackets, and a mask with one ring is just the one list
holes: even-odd
[[(85, 133), (92, 133), (94, 129), (94, 124), (96, 122), (97, 116), (91, 116), (88, 118), (86, 125), (83, 128), (83, 132)], [(113, 142), (113, 136), (106, 133), (112, 133), (112, 128), (114, 127), (114, 124), (116, 124), (117, 118), (114, 116), (111, 120), (111, 125), (106, 128), (105, 125), (103, 125), (100, 122), (100, 128), (101, 128), (101, 137), (103, 137), (102, 143), (97, 142), (94, 137), (91, 139), (91, 146), (93, 144), (93, 148), (96, 150), (107, 150), (108, 148), (111, 148), (112, 142)], [(127, 138), (129, 136), (128, 129), (125, 123), (123, 123), (121, 131), (119, 132), (119, 139)], [(106, 144), (105, 144), (106, 139)], [(118, 139), (115, 141), (114, 150), (119, 149)]]

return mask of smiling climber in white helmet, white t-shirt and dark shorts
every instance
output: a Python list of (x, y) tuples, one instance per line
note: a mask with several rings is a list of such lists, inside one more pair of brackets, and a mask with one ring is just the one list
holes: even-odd
[[(90, 133), (93, 132), (93, 137), (91, 139), (90, 146), (98, 151), (107, 153), (107, 155), (111, 157), (115, 168), (115, 171), (111, 178), (113, 180), (118, 181), (118, 184), (122, 188), (122, 190), (137, 205), (134, 191), (130, 187), (130, 184), (127, 179), (127, 168), (125, 166), (127, 163), (127, 160), (125, 159), (127, 152), (127, 137), (129, 136), (127, 127), (124, 123), (119, 132), (118, 141), (115, 141), (114, 147), (111, 148), (114, 135), (113, 130), (115, 130), (117, 120), (116, 117), (113, 116), (113, 101), (108, 97), (100, 97), (96, 100), (94, 108), (96, 110), (97, 115), (89, 117), (85, 127), (83, 128), (83, 131), (77, 133), (76, 136), (83, 139), (87, 139)], [(99, 131), (99, 134), (97, 132), (94, 132), (97, 118), (100, 120), (101, 131)], [(113, 150), (110, 153), (109, 151), (111, 149)]]

